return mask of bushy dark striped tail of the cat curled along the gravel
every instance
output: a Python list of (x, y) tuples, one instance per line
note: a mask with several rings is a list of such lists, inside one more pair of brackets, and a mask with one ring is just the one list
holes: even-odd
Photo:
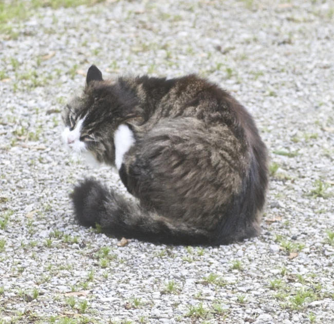
[(188, 227), (125, 200), (114, 190), (86, 179), (71, 193), (75, 215), (84, 226), (99, 224), (104, 233), (165, 244), (210, 244), (206, 230)]

